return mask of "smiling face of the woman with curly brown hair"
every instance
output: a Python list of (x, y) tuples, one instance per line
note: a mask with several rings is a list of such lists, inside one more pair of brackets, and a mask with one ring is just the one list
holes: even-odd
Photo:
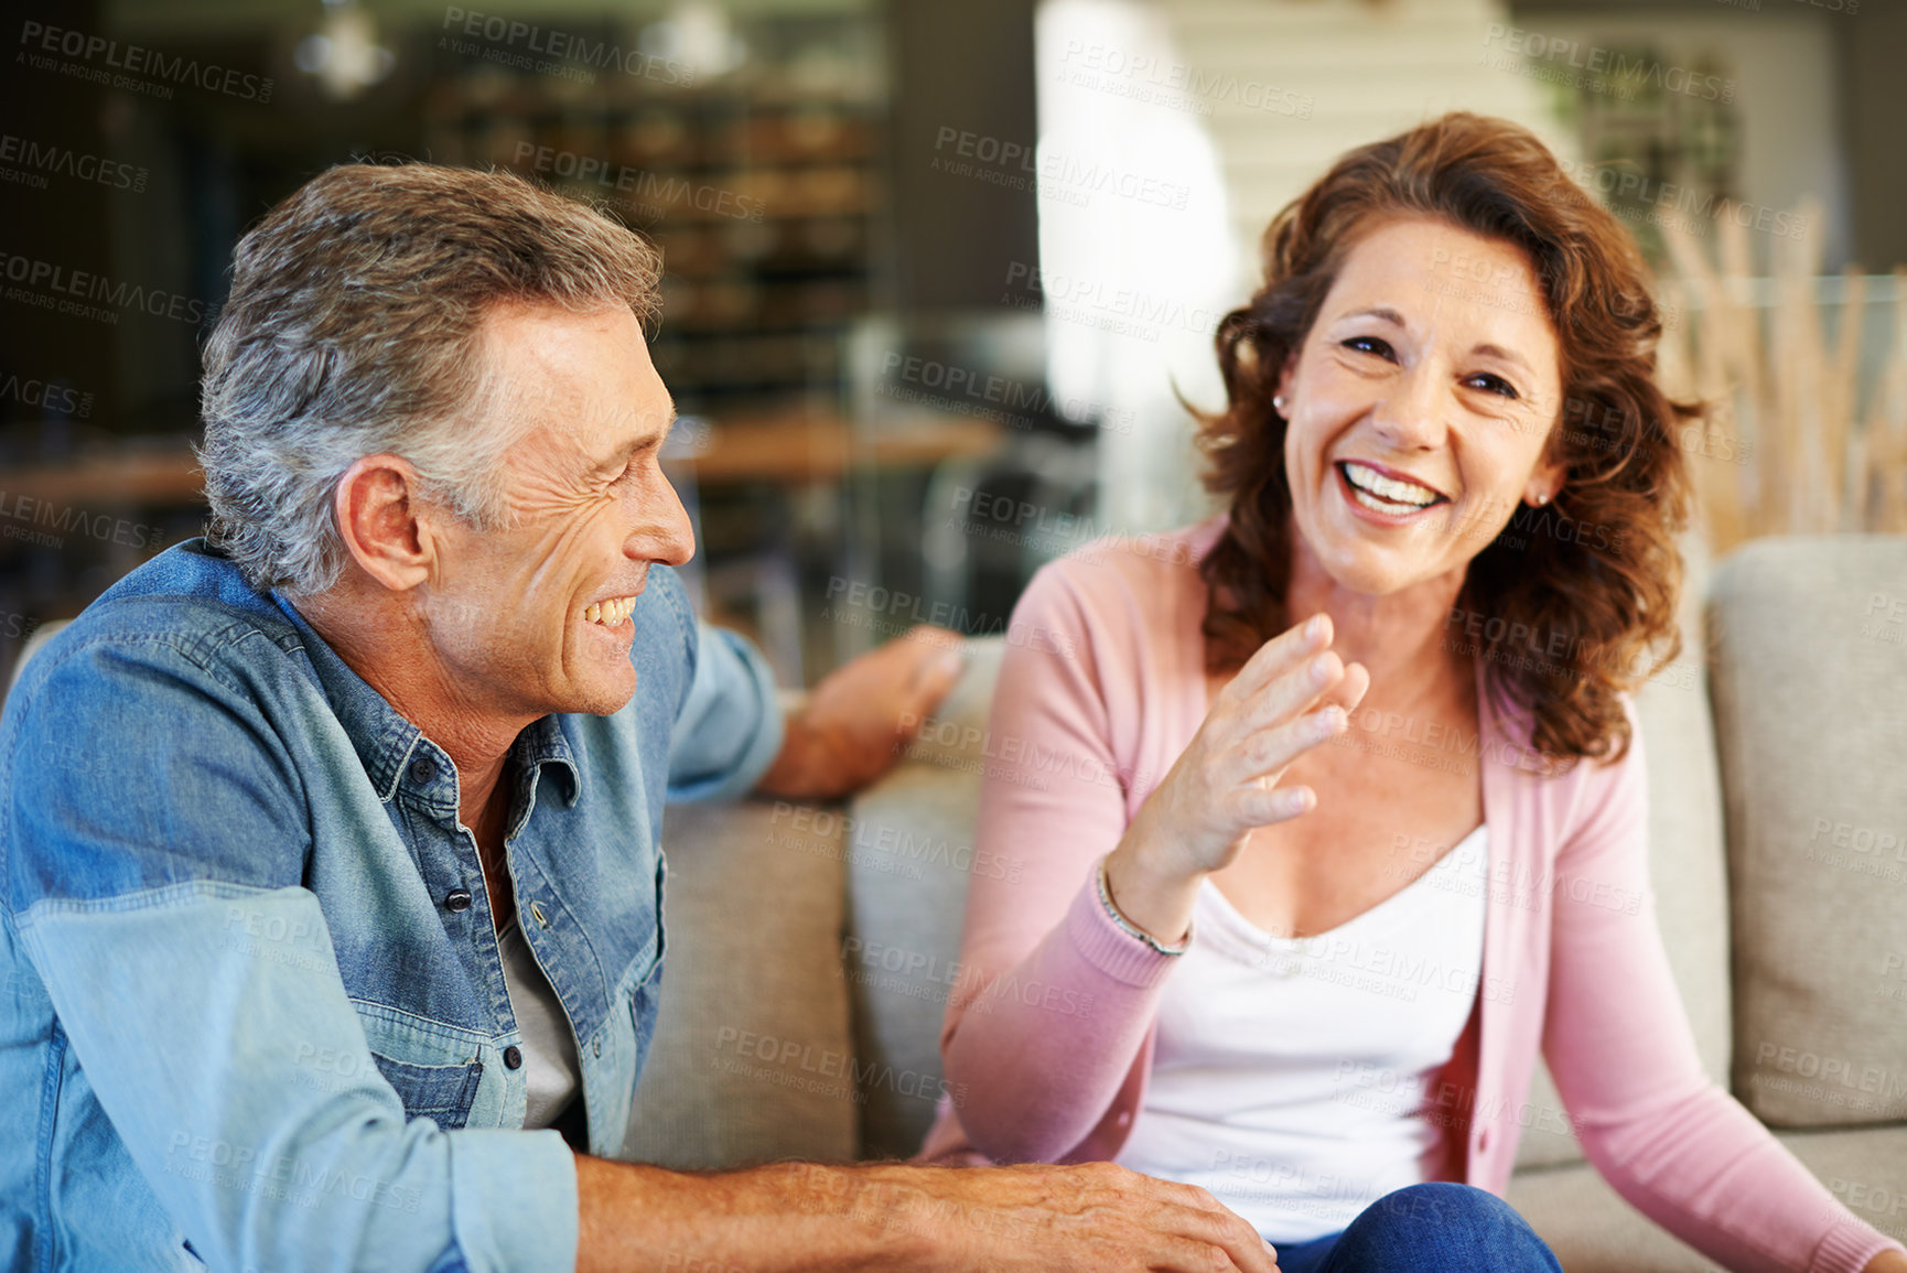
[(1386, 595), (1468, 566), (1520, 501), (1562, 366), (1528, 255), (1447, 221), (1367, 231), (1278, 385), (1295, 530), (1341, 587)]

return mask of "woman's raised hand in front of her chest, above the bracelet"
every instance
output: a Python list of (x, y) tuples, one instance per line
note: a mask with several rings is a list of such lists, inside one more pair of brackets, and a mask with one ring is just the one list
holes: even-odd
[(1106, 859), (1119, 913), (1161, 941), (1180, 940), (1200, 880), (1228, 865), (1255, 827), (1318, 802), (1310, 787), (1278, 781), (1346, 728), (1369, 686), (1362, 663), (1346, 667), (1331, 652), (1325, 614), (1259, 646)]

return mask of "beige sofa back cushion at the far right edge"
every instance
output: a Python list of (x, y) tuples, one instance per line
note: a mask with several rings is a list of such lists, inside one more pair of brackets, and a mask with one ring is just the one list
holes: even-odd
[(1907, 537), (1758, 539), (1716, 572), (1735, 1094), (1907, 1119)]

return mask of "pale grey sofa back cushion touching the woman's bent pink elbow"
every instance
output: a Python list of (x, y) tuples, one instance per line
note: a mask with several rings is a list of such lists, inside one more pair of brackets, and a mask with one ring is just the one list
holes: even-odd
[[(1011, 854), (973, 846), (986, 715), (1005, 646), (967, 642), (967, 669), (906, 758), (851, 806), (841, 970), (854, 1004), (862, 1153), (910, 1157), (944, 1090), (940, 1020), (959, 978), (973, 873), (1013, 879)], [(955, 1107), (961, 1092), (950, 1090)]]

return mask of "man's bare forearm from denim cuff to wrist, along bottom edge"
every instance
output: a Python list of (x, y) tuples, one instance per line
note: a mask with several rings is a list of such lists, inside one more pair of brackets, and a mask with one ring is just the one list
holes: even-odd
[[(944, 1254), (908, 1185), (931, 1168), (778, 1162), (688, 1174), (576, 1157), (578, 1273), (927, 1269)], [(952, 1225), (957, 1227), (957, 1225)]]

